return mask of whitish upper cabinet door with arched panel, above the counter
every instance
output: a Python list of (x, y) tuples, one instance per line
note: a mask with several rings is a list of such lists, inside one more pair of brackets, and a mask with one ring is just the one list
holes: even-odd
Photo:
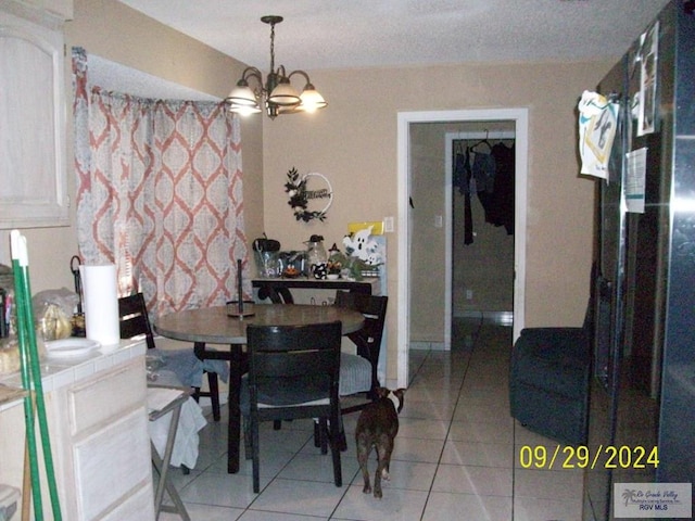
[(62, 25), (3, 9), (10, 8), (0, 7), (0, 228), (66, 226)]

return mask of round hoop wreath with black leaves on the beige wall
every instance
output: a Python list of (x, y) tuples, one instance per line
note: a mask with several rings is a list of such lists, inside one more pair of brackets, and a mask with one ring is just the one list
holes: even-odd
[(292, 167), (287, 173), (285, 192), (290, 198), (287, 204), (292, 207), (296, 220), (326, 220), (326, 213), (333, 202), (333, 188), (326, 176), (317, 171), (300, 176)]

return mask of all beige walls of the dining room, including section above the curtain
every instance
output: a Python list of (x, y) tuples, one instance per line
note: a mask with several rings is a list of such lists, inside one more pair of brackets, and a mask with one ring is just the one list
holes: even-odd
[[(114, 0), (76, 0), (66, 43), (219, 97), (242, 69), (239, 62)], [(349, 221), (397, 216), (399, 112), (525, 106), (530, 122), (527, 326), (578, 325), (589, 291), (593, 183), (577, 176), (574, 106), (582, 90), (593, 88), (609, 65), (479, 64), (312, 73), (329, 102), (326, 110), (275, 122), (256, 116), (242, 124), (247, 234), (266, 231), (283, 249), (301, 249), (312, 233), (339, 242)], [(70, 114), (70, 75), (66, 84)], [(327, 223), (293, 219), (283, 191), (292, 166), (330, 178), (336, 200)], [(74, 176), (70, 183), (74, 191)], [(404, 297), (397, 293), (397, 231), (389, 236), (388, 251), (393, 303), (389, 379), (396, 371), (395, 302)], [(33, 289), (71, 288), (68, 262), (77, 251), (74, 227), (26, 234)], [(7, 232), (0, 239), (8, 244)], [(0, 262), (7, 264), (4, 245)]]

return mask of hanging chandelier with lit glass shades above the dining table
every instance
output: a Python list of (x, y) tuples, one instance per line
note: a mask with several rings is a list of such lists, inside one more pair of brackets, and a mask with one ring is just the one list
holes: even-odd
[[(257, 114), (262, 111), (263, 103), (266, 114), (275, 119), (279, 114), (314, 112), (325, 107), (328, 103), (314, 88), (304, 71), (293, 71), (287, 74), (285, 65), (275, 68), (275, 25), (282, 22), (282, 16), (263, 16), (261, 22), (270, 25), (270, 72), (263, 81), (261, 71), (256, 67), (247, 67), (241, 79), (237, 81), (237, 86), (225, 99), (229, 104), (229, 111), (242, 115)], [(302, 76), (306, 81), (301, 94), (290, 82), (292, 76)], [(250, 87), (250, 80), (256, 84), (254, 89)]]

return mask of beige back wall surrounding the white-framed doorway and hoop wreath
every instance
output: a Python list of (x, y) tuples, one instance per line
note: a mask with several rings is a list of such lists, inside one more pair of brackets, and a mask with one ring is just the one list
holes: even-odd
[[(619, 52), (620, 50), (617, 50)], [(399, 112), (529, 109), (526, 325), (580, 325), (589, 295), (593, 182), (578, 177), (577, 101), (611, 62), (470, 64), (312, 72), (329, 106), (264, 125), (265, 229), (283, 247), (345, 223), (397, 215)], [(292, 219), (285, 175), (320, 171), (336, 199), (325, 224)], [(388, 378), (396, 372), (397, 232), (389, 236)]]

